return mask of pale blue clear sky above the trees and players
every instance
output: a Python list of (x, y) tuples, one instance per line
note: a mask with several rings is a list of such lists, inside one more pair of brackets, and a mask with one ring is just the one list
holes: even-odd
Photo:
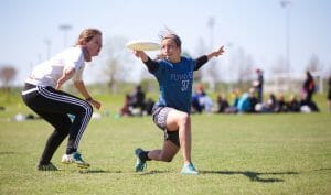
[[(290, 65), (292, 72), (303, 72), (312, 55), (317, 55), (323, 72), (331, 71), (331, 1), (291, 0)], [(207, 25), (214, 19), (214, 29)], [(0, 7), (0, 65), (12, 64), (22, 83), (32, 66), (50, 53), (64, 47), (61, 24), (70, 24), (66, 44), (73, 44), (85, 28), (98, 28), (104, 41), (114, 36), (129, 40), (158, 41), (167, 25), (183, 41), (183, 50), (197, 55), (200, 41), (213, 46), (226, 45), (221, 61), (224, 74), (231, 66), (231, 54), (242, 48), (253, 58), (254, 67), (267, 73), (286, 56), (286, 10), (279, 0), (2, 0)], [(108, 43), (108, 42), (107, 42)], [(106, 46), (106, 45), (105, 45)], [(106, 56), (105, 52), (100, 57)], [(139, 65), (138, 65), (139, 66)], [(222, 68), (221, 68), (222, 71)], [(85, 76), (98, 78), (103, 67), (90, 67)]]

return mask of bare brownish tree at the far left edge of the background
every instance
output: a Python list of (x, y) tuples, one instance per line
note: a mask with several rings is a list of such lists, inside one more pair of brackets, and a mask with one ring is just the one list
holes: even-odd
[(4, 91), (10, 90), (10, 83), (17, 76), (17, 69), (12, 65), (4, 65), (0, 67), (0, 80), (1, 80), (1, 88)]

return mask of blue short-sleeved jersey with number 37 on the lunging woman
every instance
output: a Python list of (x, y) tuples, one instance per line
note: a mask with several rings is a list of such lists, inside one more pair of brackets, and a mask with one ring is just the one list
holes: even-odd
[(158, 61), (159, 67), (151, 72), (159, 82), (160, 97), (157, 106), (167, 106), (184, 112), (191, 111), (193, 72), (196, 62), (181, 57), (179, 63)]

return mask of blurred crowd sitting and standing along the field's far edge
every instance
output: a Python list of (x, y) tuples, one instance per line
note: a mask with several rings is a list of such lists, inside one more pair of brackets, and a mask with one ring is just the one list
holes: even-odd
[[(273, 113), (273, 112), (318, 112), (319, 108), (312, 99), (317, 86), (310, 72), (306, 72), (306, 79), (300, 94), (284, 95), (270, 93), (265, 95), (264, 76), (261, 69), (256, 69), (257, 77), (252, 82), (248, 91), (236, 88), (231, 94), (221, 93), (215, 101), (207, 95), (202, 84), (195, 86), (192, 94), (192, 113)], [(331, 111), (331, 76), (328, 80), (328, 107)], [(141, 86), (126, 95), (125, 106), (120, 110), (121, 116), (151, 115), (154, 101), (146, 100)]]

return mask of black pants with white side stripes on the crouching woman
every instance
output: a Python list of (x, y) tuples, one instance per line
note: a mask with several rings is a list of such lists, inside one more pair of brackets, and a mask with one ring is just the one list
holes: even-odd
[[(55, 128), (49, 137), (40, 163), (50, 163), (54, 152), (67, 136), (66, 153), (77, 150), (93, 113), (93, 107), (87, 101), (55, 90), (53, 87), (31, 84), (25, 84), (22, 99), (29, 108)], [(68, 113), (75, 116), (73, 121)]]

